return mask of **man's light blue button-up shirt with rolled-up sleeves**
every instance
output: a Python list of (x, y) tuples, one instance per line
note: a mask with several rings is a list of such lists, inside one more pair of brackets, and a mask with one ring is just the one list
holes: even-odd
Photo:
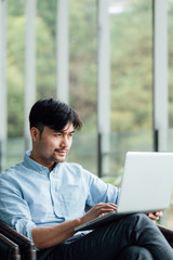
[(51, 172), (30, 157), (0, 174), (0, 220), (31, 237), (31, 229), (84, 214), (85, 205), (117, 204), (119, 191), (81, 166), (59, 162)]

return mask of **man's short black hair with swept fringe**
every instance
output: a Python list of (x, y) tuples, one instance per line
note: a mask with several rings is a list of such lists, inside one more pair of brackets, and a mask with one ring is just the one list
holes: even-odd
[(41, 132), (43, 127), (62, 130), (67, 122), (72, 122), (75, 129), (80, 129), (82, 122), (78, 114), (67, 104), (53, 98), (38, 100), (30, 109), (30, 128), (36, 127)]

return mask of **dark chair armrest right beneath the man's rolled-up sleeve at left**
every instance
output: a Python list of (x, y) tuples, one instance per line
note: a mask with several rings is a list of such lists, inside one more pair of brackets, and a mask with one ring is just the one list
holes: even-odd
[(18, 245), (21, 255), (25, 260), (36, 260), (37, 251), (32, 240), (28, 239), (26, 236), (19, 234), (11, 226), (6, 225), (2, 221), (0, 221), (0, 233), (2, 233), (5, 237), (14, 242)]

